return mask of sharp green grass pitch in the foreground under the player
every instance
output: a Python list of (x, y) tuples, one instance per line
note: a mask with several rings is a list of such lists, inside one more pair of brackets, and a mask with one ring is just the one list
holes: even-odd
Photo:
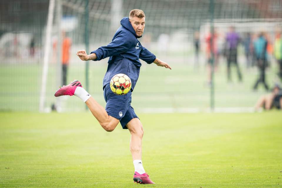
[(128, 130), (104, 131), (90, 113), (0, 113), (0, 187), (282, 187), (282, 116), (139, 114), (136, 185)]

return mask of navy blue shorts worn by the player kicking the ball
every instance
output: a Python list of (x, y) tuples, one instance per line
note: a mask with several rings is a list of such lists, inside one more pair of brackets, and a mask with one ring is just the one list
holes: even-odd
[(104, 87), (104, 98), (108, 115), (119, 119), (123, 129), (127, 129), (126, 124), (133, 118), (139, 119), (131, 106), (131, 91), (126, 95), (116, 95), (108, 83)]

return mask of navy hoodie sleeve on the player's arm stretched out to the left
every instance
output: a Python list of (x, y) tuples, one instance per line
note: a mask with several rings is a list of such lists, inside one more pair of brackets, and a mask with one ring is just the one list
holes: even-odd
[(132, 43), (125, 35), (120, 34), (107, 46), (101, 46), (91, 53), (96, 53), (97, 58), (94, 61), (100, 61), (101, 59), (126, 52), (131, 47), (131, 44)]

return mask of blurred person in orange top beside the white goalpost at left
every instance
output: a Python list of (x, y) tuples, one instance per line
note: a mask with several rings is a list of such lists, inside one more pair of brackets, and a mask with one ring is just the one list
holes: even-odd
[(71, 39), (66, 37), (66, 32), (62, 33), (62, 74), (63, 74), (63, 83), (62, 85), (66, 84), (67, 79), (67, 70), (69, 66), (69, 51), (71, 48)]

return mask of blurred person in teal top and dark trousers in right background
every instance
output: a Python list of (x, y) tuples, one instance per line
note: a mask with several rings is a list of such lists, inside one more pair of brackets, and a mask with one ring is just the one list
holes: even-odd
[(257, 90), (258, 84), (262, 83), (264, 88), (268, 90), (268, 85), (266, 83), (266, 75), (265, 70), (267, 67), (267, 40), (265, 37), (265, 33), (261, 32), (258, 38), (254, 41), (254, 52), (256, 56), (257, 66), (259, 69), (259, 77), (253, 86), (254, 90)]

